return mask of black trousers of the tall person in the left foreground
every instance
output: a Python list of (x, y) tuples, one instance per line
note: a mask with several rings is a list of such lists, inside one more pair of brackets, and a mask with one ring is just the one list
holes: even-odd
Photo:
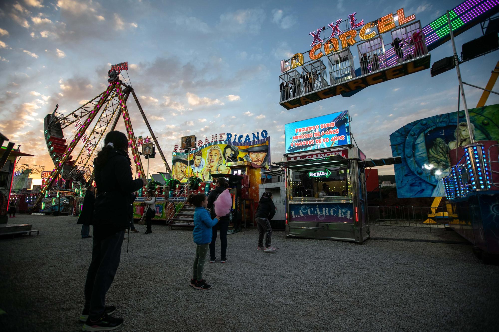
[(104, 239), (93, 238), (92, 262), (88, 267), (85, 282), (85, 308), (89, 308), (89, 318), (98, 320), (106, 308), (106, 293), (120, 264), (121, 245), (125, 231), (119, 231)]

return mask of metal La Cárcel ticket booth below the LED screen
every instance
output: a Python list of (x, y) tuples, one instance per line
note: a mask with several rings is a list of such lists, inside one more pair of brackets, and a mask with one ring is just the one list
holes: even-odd
[(357, 243), (369, 238), (364, 169), (397, 158), (365, 160), (355, 147), (347, 156), (274, 163), (286, 170), (286, 236)]

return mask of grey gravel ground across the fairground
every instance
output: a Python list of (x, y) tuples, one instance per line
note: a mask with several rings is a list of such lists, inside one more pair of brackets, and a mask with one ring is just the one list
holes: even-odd
[[(92, 240), (80, 238), (74, 217), (14, 220), (40, 235), (0, 240), (1, 330), (81, 331)], [(402, 231), (372, 233), (392, 229)], [(213, 290), (198, 291), (188, 286), (192, 232), (153, 232), (130, 234), (128, 253), (124, 242), (107, 296), (125, 319), (116, 331), (497, 331), (499, 267), (478, 261), (470, 245), (358, 245), (275, 232), (279, 250), (263, 253), (250, 229), (228, 237), (228, 262), (205, 268)]]

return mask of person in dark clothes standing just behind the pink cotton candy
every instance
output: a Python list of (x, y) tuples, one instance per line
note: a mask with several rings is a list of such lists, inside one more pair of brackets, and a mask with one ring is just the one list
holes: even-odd
[[(227, 189), (229, 188), (229, 182), (227, 182), (224, 177), (217, 177), (215, 179), (215, 184), (215, 189), (210, 191), (210, 194), (208, 195), (208, 208), (211, 209), (210, 214), (212, 219), (215, 219), (217, 217), (215, 213), (215, 206), (213, 203), (217, 200), (218, 196), (222, 192), (224, 192), (224, 190), (229, 190)], [(215, 261), (217, 260), (217, 258), (215, 257), (215, 242), (217, 240), (217, 230), (220, 230), (220, 243), (222, 245), (220, 263), (225, 263), (227, 261), (227, 231), (229, 230), (229, 222), (231, 220), (229, 214), (220, 217), (219, 222), (212, 228), (213, 236), (212, 242), (210, 243), (210, 263), (215, 263)]]

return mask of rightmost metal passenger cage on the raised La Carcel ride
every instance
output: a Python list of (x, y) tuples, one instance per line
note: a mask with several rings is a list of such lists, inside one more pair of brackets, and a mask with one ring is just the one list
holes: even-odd
[(425, 35), (421, 28), (421, 22), (403, 26), (397, 30), (392, 31), (392, 46), (395, 50), (396, 56), (390, 61), (389, 65), (397, 62), (410, 60), (413, 57), (420, 56), (428, 53), (425, 44)]

